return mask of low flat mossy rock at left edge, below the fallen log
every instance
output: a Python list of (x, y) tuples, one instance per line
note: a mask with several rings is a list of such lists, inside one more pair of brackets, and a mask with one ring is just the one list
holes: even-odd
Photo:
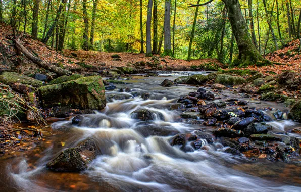
[(31, 77), (23, 76), (15, 72), (3, 72), (2, 75), (0, 75), (0, 82), (7, 85), (21, 83), (24, 85), (31, 85), (33, 87), (41, 87), (43, 85), (42, 81)]

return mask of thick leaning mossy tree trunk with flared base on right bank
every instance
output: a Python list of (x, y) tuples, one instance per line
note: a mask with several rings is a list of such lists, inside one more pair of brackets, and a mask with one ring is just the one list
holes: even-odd
[(229, 21), (239, 50), (238, 58), (232, 63), (231, 67), (246, 67), (248, 65), (256, 64), (259, 60), (263, 60), (250, 39), (247, 25), (241, 13), (239, 1), (223, 0), (223, 2), (227, 8)]

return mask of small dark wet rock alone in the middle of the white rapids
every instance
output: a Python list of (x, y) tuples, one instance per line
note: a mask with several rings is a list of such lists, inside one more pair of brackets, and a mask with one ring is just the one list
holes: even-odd
[(153, 121), (156, 119), (164, 120), (162, 113), (157, 111), (150, 111), (149, 109), (138, 109), (132, 113), (133, 119), (139, 119), (141, 121)]

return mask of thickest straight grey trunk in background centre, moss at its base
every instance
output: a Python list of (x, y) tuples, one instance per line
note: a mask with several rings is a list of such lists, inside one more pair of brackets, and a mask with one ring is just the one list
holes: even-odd
[(163, 56), (173, 57), (171, 50), (171, 35), (170, 35), (170, 1), (165, 0), (165, 12), (164, 12), (164, 51)]

